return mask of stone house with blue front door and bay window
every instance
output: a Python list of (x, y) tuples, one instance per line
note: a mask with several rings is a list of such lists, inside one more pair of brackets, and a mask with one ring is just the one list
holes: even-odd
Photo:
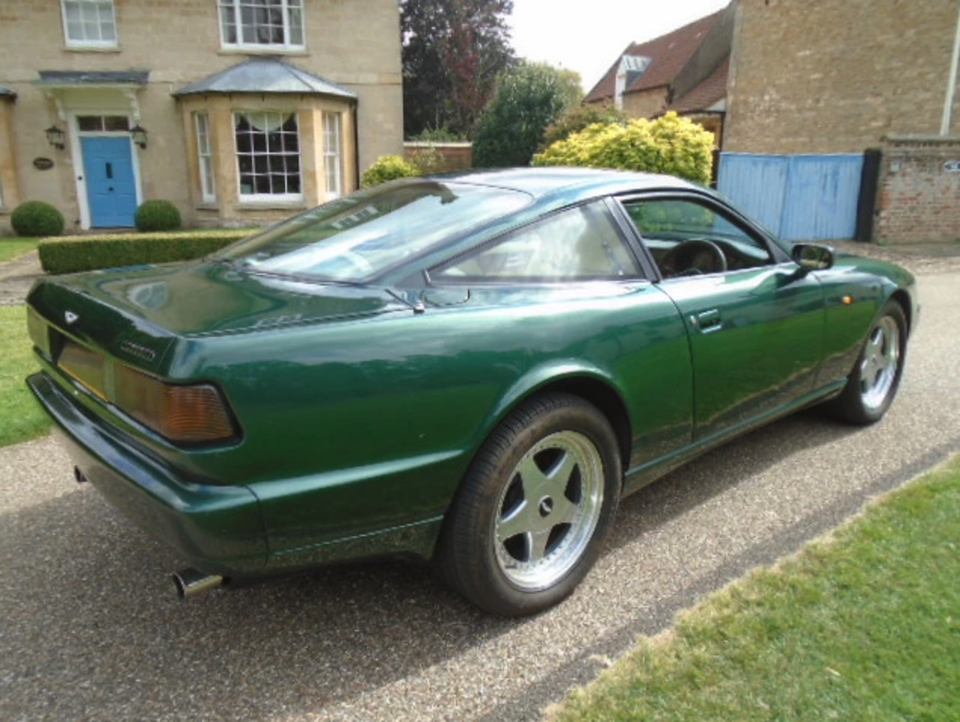
[(263, 223), (402, 152), (396, 0), (3, 0), (0, 47), (0, 232)]

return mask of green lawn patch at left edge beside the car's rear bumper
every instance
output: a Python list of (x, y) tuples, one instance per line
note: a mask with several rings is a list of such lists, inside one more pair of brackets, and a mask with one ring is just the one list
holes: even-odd
[(22, 305), (0, 306), (0, 446), (36, 439), (51, 422), (23, 379), (36, 370)]

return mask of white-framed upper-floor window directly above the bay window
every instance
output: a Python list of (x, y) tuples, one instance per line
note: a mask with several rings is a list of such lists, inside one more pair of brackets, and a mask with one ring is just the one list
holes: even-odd
[(302, 0), (218, 0), (225, 48), (302, 50)]

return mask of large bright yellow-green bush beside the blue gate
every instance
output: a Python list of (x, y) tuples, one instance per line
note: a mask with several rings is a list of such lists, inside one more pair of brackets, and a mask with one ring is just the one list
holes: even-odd
[(671, 111), (654, 121), (588, 126), (534, 156), (533, 164), (646, 171), (706, 184), (712, 152), (712, 133)]

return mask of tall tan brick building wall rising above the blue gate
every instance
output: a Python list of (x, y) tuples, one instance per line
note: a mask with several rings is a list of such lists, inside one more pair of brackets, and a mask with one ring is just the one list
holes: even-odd
[(889, 133), (939, 132), (958, 10), (956, 0), (739, 0), (724, 149), (859, 153)]

